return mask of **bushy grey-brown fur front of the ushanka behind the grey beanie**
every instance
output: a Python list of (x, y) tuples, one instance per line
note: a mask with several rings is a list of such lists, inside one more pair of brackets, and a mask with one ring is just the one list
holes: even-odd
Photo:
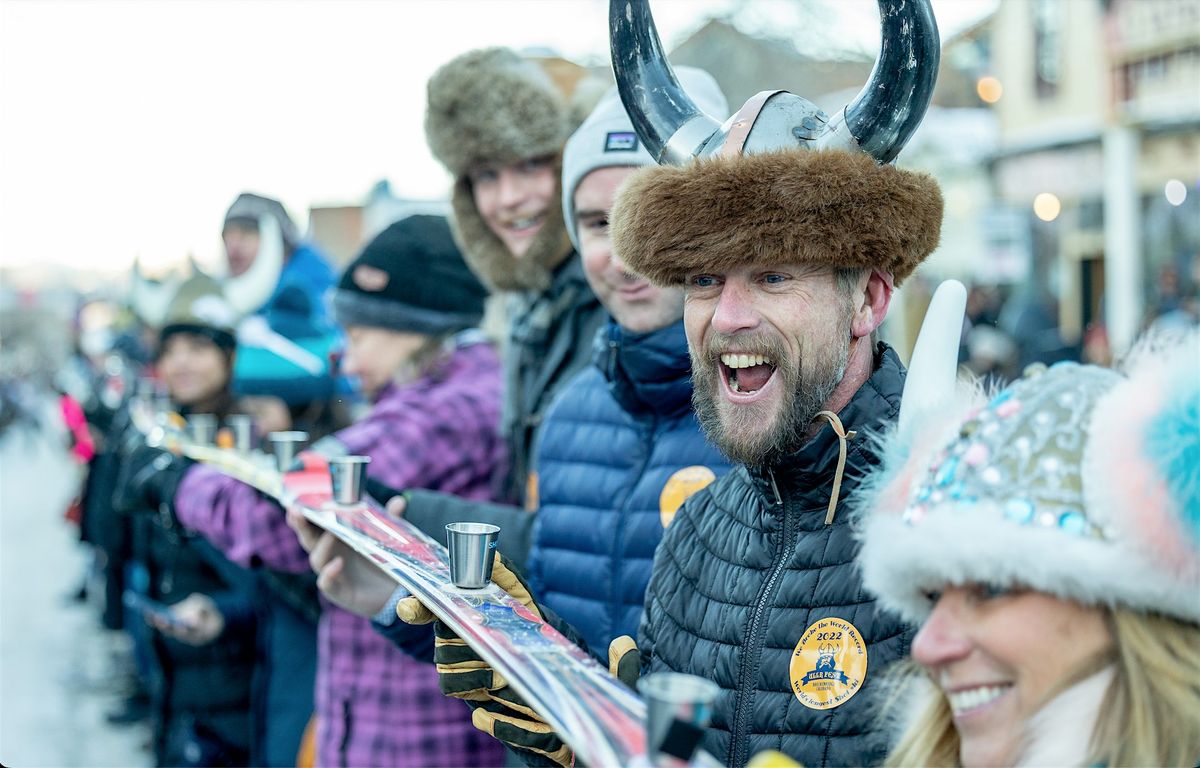
[(425, 138), (455, 176), (478, 164), (556, 155), (570, 133), (566, 97), (509, 48), (481, 48), (430, 78)]

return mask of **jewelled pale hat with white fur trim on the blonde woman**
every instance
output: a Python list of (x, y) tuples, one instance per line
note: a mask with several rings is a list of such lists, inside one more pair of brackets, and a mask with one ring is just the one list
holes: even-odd
[(866, 589), (913, 622), (989, 584), (1200, 623), (1198, 349), (1058, 364), (887, 438), (857, 502)]

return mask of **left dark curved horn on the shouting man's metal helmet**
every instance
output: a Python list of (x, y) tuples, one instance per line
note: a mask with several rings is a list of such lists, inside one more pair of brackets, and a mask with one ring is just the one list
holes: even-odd
[(608, 29), (617, 90), (650, 157), (678, 166), (698, 155), (720, 121), (679, 84), (647, 0), (611, 0)]

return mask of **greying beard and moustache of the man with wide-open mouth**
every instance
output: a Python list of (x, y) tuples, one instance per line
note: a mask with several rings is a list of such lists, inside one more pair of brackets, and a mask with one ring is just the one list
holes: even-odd
[[(691, 406), (704, 434), (731, 461), (749, 467), (775, 466), (808, 443), (809, 426), (824, 409), (850, 364), (850, 344), (833, 343), (821, 359), (809, 359), (811, 371), (802, 373), (800, 365), (772, 350), (778, 361), (775, 376), (782, 377), (784, 402), (775, 424), (763, 434), (754, 436), (752, 427), (761, 421), (756, 408), (736, 407), (728, 424), (721, 416), (721, 383), (716, 380), (720, 366), (714, 356), (697, 360), (692, 350)], [(822, 350), (823, 352), (823, 350)]]

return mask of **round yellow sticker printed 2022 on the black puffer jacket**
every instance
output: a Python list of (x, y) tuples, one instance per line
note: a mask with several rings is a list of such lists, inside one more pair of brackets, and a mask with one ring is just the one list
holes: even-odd
[(846, 619), (820, 619), (796, 643), (788, 673), (792, 692), (809, 709), (840, 707), (866, 679), (866, 643)]

